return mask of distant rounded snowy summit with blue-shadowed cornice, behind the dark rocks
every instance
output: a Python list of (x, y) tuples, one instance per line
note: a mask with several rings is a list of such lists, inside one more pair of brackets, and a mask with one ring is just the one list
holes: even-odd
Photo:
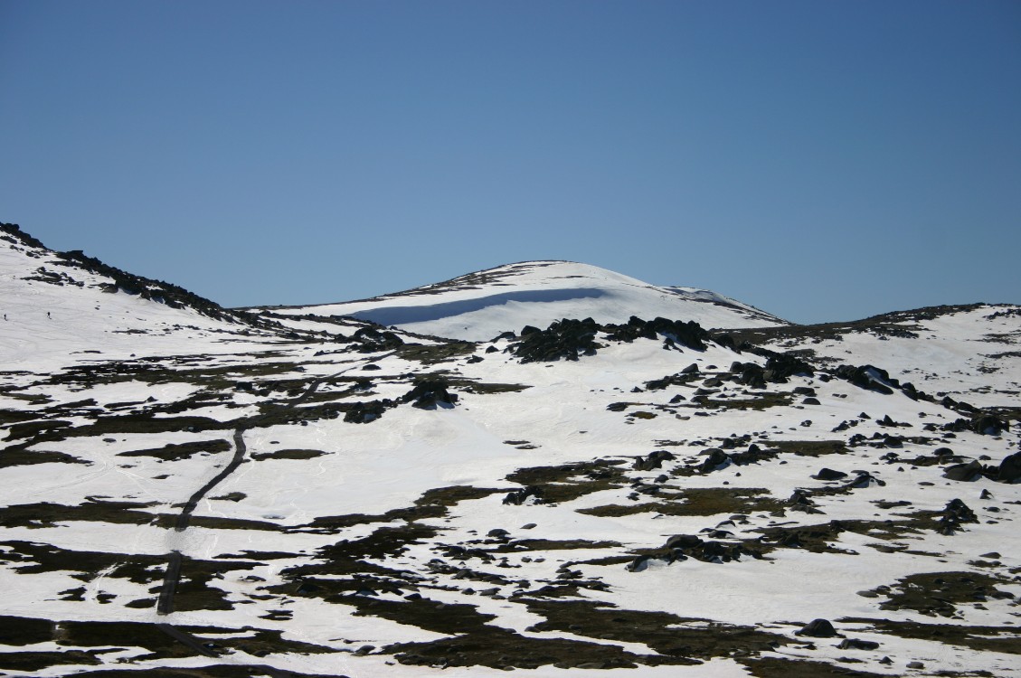
[(419, 334), (486, 341), (526, 325), (564, 318), (626, 323), (684, 318), (706, 328), (786, 325), (774, 316), (709, 290), (657, 287), (598, 267), (526, 261), (374, 299), (261, 309), (270, 316), (350, 316)]

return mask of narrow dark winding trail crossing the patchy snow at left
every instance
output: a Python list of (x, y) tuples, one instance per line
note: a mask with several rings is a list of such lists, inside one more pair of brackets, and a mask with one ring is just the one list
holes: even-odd
[[(390, 357), (391, 355), (394, 355), (396, 352), (397, 351), (390, 351), (382, 355), (367, 357), (367, 359), (380, 360), (385, 357)], [(354, 370), (355, 368), (360, 366), (361, 362), (359, 361), (354, 365), (348, 366), (347, 368), (344, 368), (339, 372), (335, 372), (332, 375), (328, 375), (326, 377), (320, 377), (319, 379), (312, 380), (299, 396), (295, 397), (293, 400), (285, 402), (283, 406), (286, 408), (292, 408), (296, 407), (297, 405), (300, 405), (302, 402), (311, 397), (312, 393), (315, 392), (315, 390), (323, 384), (323, 382), (336, 379), (337, 377), (340, 377), (344, 373), (349, 372), (350, 370)], [(204, 498), (205, 495), (208, 494), (214, 487), (216, 487), (216, 485), (224, 482), (224, 480), (230, 477), (231, 474), (237, 471), (238, 467), (240, 467), (241, 464), (245, 461), (245, 453), (248, 451), (248, 447), (247, 445), (245, 445), (244, 432), (247, 429), (256, 428), (264, 417), (265, 415), (254, 417), (248, 420), (245, 425), (239, 426), (234, 430), (234, 456), (231, 457), (231, 461), (228, 463), (226, 467), (223, 468), (223, 470), (221, 470), (220, 473), (217, 473), (205, 485), (197, 489), (188, 498), (188, 500), (182, 506), (181, 513), (178, 514), (177, 520), (175, 521), (174, 524), (175, 532), (184, 532), (185, 530), (188, 529), (189, 525), (191, 524), (192, 514), (198, 506), (198, 502), (201, 501), (202, 498)], [(169, 553), (167, 553), (166, 561), (167, 561), (166, 571), (163, 573), (163, 584), (159, 590), (159, 598), (156, 601), (156, 614), (159, 616), (166, 616), (174, 612), (174, 597), (177, 594), (178, 583), (181, 581), (181, 566), (184, 562), (184, 556), (181, 554), (180, 550), (175, 549), (172, 550)], [(195, 636), (189, 633), (186, 633), (185, 631), (182, 631), (181, 629), (177, 628), (172, 624), (158, 623), (156, 624), (156, 627), (166, 635), (174, 638), (175, 640), (184, 643), (185, 645), (188, 645), (192, 649), (206, 657), (221, 656), (218, 652), (214, 651), (207, 644), (203, 643), (200, 639), (196, 638)], [(260, 668), (265, 670), (271, 675), (278, 675), (278, 674), (285, 675), (288, 673), (279, 670), (274, 670), (271, 667), (265, 667), (265, 666), (262, 666)]]

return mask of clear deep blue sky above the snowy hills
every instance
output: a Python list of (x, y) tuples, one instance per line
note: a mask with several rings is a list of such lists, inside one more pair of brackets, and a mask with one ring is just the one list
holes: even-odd
[(1021, 2), (0, 0), (0, 221), (225, 305), (1021, 302)]

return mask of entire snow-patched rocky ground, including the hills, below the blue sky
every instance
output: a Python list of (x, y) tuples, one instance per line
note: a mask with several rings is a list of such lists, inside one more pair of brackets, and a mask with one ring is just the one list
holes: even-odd
[(5, 228), (0, 671), (1021, 675), (1021, 306), (494, 271), (364, 302), (412, 334)]

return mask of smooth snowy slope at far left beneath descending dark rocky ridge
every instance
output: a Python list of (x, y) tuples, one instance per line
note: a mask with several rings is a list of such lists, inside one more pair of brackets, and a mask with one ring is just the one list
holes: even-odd
[(81, 251), (50, 250), (13, 224), (0, 225), (0, 299), (7, 370), (55, 370), (97, 355), (125, 358), (199, 344), (203, 350), (235, 350), (227, 346), (284, 334), (277, 324), (225, 309), (176, 285)]

